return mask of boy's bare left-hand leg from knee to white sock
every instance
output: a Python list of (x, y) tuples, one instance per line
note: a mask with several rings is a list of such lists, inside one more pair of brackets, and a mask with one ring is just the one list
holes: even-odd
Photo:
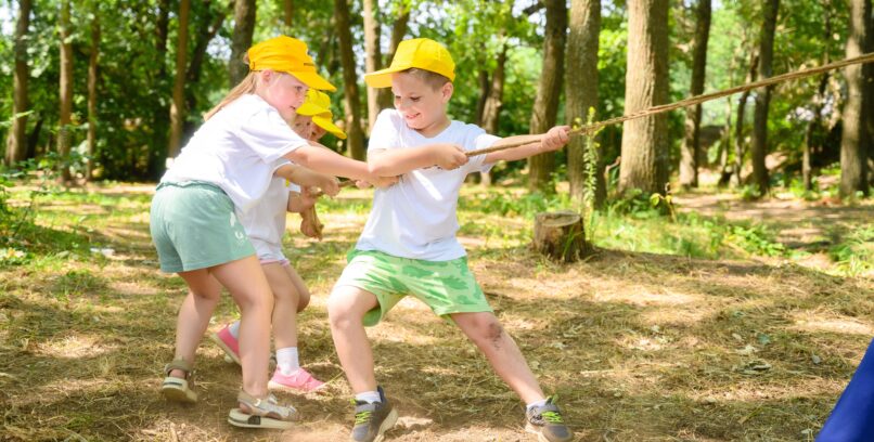
[(376, 390), (373, 351), (363, 323), (364, 313), (376, 306), (373, 294), (352, 286), (334, 287), (327, 299), (331, 336), (355, 393)]

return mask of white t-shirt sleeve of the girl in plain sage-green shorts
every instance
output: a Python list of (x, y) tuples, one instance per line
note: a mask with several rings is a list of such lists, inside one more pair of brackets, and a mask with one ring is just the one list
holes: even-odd
[(235, 135), (265, 162), (273, 162), (309, 144), (292, 130), (275, 109), (254, 113), (240, 125)]

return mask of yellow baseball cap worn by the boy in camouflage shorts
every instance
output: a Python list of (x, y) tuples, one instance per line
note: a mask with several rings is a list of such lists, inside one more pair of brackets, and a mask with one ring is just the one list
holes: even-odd
[(385, 69), (364, 75), (371, 88), (390, 88), (391, 74), (410, 68), (430, 70), (440, 74), (449, 81), (455, 80), (455, 62), (442, 44), (429, 38), (403, 40), (398, 44), (391, 65)]

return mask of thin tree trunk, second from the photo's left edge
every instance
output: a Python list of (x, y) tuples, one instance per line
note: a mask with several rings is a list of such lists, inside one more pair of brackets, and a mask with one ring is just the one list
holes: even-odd
[(61, 0), (61, 109), (57, 128), (57, 154), (61, 156), (61, 179), (70, 180), (69, 166), (69, 123), (73, 113), (73, 44), (69, 41), (69, 0)]

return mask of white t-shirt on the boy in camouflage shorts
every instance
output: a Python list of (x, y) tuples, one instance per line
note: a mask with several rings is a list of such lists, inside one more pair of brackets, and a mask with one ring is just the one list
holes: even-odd
[[(395, 109), (380, 113), (371, 131), (368, 152), (412, 148), (434, 143), (454, 143), (465, 151), (484, 148), (500, 140), (476, 125), (451, 121), (434, 138), (425, 138), (407, 127)], [(485, 155), (470, 158), (466, 165), (444, 170), (416, 169), (403, 174), (397, 184), (377, 188), (373, 209), (358, 239), (359, 250), (380, 250), (401, 258), (448, 261), (466, 255), (455, 238), (459, 191), (467, 173), (487, 171)]]

